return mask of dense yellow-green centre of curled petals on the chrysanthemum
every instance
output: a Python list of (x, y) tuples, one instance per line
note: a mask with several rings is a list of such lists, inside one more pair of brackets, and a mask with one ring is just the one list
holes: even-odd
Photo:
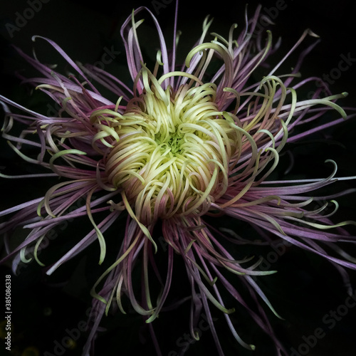
[(205, 214), (226, 192), (241, 132), (230, 115), (219, 112), (213, 83), (185, 84), (175, 92), (157, 85), (145, 89), (123, 115), (95, 112), (103, 136), (108, 126), (115, 130), (105, 158), (108, 181), (125, 192), (143, 224)]

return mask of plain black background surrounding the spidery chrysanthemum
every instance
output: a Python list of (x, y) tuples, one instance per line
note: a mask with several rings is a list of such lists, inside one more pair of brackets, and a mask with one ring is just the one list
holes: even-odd
[[(29, 5), (28, 1), (16, 0), (11, 1), (11, 4), (10, 1), (6, 1), (6, 4), (2, 1), (0, 5), (0, 94), (25, 106), (46, 112), (46, 101), (43, 101), (38, 93), (32, 93), (30, 96), (30, 90), (26, 85), (20, 85), (19, 80), (14, 77), (16, 70), (26, 68), (26, 73), (31, 73), (31, 69), (23, 63), (9, 44), (19, 46), (30, 54), (33, 46), (31, 36), (33, 35), (53, 39), (71, 58), (82, 63), (100, 61), (105, 53), (105, 48), (115, 48), (115, 51), (120, 51), (120, 54), (105, 66), (105, 70), (128, 80), (125, 51), (120, 39), (120, 26), (130, 15), (132, 8), (145, 5), (155, 13), (154, 4), (159, 2), (164, 4), (163, 1), (156, 3), (152, 1), (131, 1), (130, 3), (115, 1), (113, 3), (101, 0), (89, 4), (88, 1), (79, 0), (50, 0), (47, 4), (42, 4), (42, 9), (36, 12), (33, 18), (20, 28), (20, 31), (14, 31), (13, 36), (10, 36), (9, 31), (6, 31), (6, 24), (15, 24), (17, 13), (23, 14)], [(157, 19), (164, 33), (171, 34), (174, 21), (174, 1), (169, 3), (166, 0), (165, 2), (165, 7), (162, 6), (159, 9)], [(276, 6), (276, 1), (261, 3), (263, 11)], [(278, 36), (283, 37), (279, 58), (293, 46), (305, 28), (311, 28), (315, 33), (318, 33), (321, 41), (305, 60), (301, 69), (303, 76), (330, 74), (330, 70), (337, 68), (341, 55), (347, 56), (350, 53), (351, 58), (356, 58), (355, 2), (347, 0), (337, 2), (286, 0), (284, 3), (286, 9), (279, 11), (274, 20), (276, 25), (272, 28), (275, 40)], [(249, 14), (253, 14), (253, 9), (256, 8), (258, 2), (249, 1), (248, 4)], [(186, 53), (185, 48), (190, 48), (201, 33), (201, 25), (207, 14), (214, 16), (211, 31), (227, 36), (232, 23), (239, 23), (240, 29), (244, 27), (244, 9), (244, 1), (180, 1), (178, 27), (182, 29), (179, 45), (182, 53)], [(146, 42), (142, 40), (142, 46), (145, 50), (147, 49), (148, 56), (155, 56), (152, 49), (150, 52), (150, 48), (152, 48), (151, 41), (157, 40), (152, 40), (150, 37), (150, 23), (148, 26), (145, 34)], [(239, 28), (236, 31), (239, 31)], [(313, 38), (308, 38), (301, 48), (305, 48), (313, 41)], [(40, 41), (35, 45), (39, 58), (56, 63), (58, 55), (50, 46), (46, 46)], [(293, 66), (296, 58), (297, 54), (290, 58), (290, 66)], [(342, 72), (340, 78), (330, 85), (333, 93), (347, 91), (350, 94), (345, 100), (340, 101), (344, 106), (356, 106), (355, 73), (356, 62), (352, 63), (352, 66)], [(308, 93), (304, 94), (308, 95)], [(295, 157), (295, 165), (289, 172), (288, 178), (326, 177), (330, 174), (330, 167), (324, 163), (328, 158), (337, 161), (338, 176), (356, 175), (355, 120), (310, 137), (299, 144), (289, 145), (288, 150), (293, 152)], [(24, 167), (21, 159), (8, 149), (4, 140), (1, 140), (0, 143), (0, 159), (0, 166), (6, 167), (8, 174), (21, 174), (23, 169), (27, 169), (26, 172), (31, 172), (31, 168)], [(286, 161), (282, 159), (282, 169), (278, 177), (284, 177), (283, 169), (286, 167), (283, 164), (286, 165)], [(43, 182), (41, 179), (33, 181), (1, 179), (1, 210), (43, 195), (52, 184), (53, 181)], [(337, 189), (352, 187), (355, 187), (354, 182), (342, 182)], [(6, 194), (7, 192), (10, 194)], [(328, 194), (328, 192), (323, 193)], [(348, 197), (337, 199), (341, 207), (335, 216), (335, 221), (355, 219), (355, 198), (356, 194), (354, 193)], [(244, 229), (246, 234), (253, 234), (251, 229), (239, 222), (236, 222), (234, 229)], [(350, 231), (355, 235), (355, 229), (350, 228)], [(111, 233), (113, 237), (108, 243), (115, 247), (117, 232), (113, 228)], [(41, 255), (43, 261), (51, 263), (53, 256), (58, 254), (61, 256), (61, 253), (66, 251), (66, 246), (70, 246), (71, 236), (75, 236), (75, 238), (83, 236), (82, 226), (72, 224), (65, 232), (58, 231), (58, 234), (60, 239), (56, 239), (51, 248), (43, 251)], [(66, 329), (78, 328), (78, 323), (86, 320), (85, 311), (90, 307), (89, 290), (96, 278), (105, 271), (105, 266), (99, 268), (97, 265), (97, 248), (98, 246), (92, 246), (85, 256), (80, 255), (78, 258), (74, 258), (68, 265), (59, 268), (50, 278), (43, 273), (39, 266), (36, 266), (36, 263), (22, 268), (19, 277), (13, 277), (14, 329), (10, 355), (43, 355), (46, 351), (56, 355), (55, 340), (61, 342), (67, 335)], [(115, 251), (115, 248), (113, 250)], [(264, 253), (266, 256), (268, 251), (258, 250), (257, 253), (256, 251), (253, 253), (256, 255)], [(240, 251), (236, 252), (241, 253)], [(179, 263), (179, 258), (176, 258), (176, 261), (176, 271), (182, 271), (182, 273), (176, 272), (177, 282), (172, 287), (172, 293), (187, 295), (189, 290), (187, 290), (187, 281), (184, 278), (185, 269), (182, 263)], [(326, 336), (318, 340), (315, 347), (310, 347), (308, 353), (300, 355), (355, 355), (356, 308), (350, 308), (347, 314), (335, 323), (335, 328), (332, 330), (328, 330), (327, 325), (322, 321), (323, 317), (330, 313), (330, 310), (336, 310), (339, 305), (345, 303), (347, 298), (340, 276), (330, 267), (330, 264), (321, 258), (290, 248), (273, 264), (273, 268), (276, 268), (279, 273), (275, 276), (261, 278), (261, 286), (266, 291), (268, 298), (271, 299), (272, 304), (285, 318), (285, 320), (278, 320), (273, 315), (269, 315), (273, 328), (286, 345), (287, 350), (290, 350), (290, 347), (298, 349), (300, 343), (305, 342), (303, 336), (308, 337), (321, 327), (325, 330)], [(3, 271), (1, 276), (4, 276), (9, 273), (9, 266), (2, 266), (1, 270)], [(355, 282), (353, 285), (355, 290), (355, 273), (351, 272), (350, 274), (352, 281)], [(187, 291), (186, 294), (184, 294), (185, 291)], [(214, 307), (211, 309), (214, 310)], [(169, 355), (169, 350), (178, 350), (176, 344), (178, 337), (188, 333), (188, 312), (189, 303), (186, 303), (178, 310), (162, 313), (160, 318), (155, 320), (155, 330), (157, 330), (157, 337), (161, 342), (164, 355)], [(221, 345), (223, 345), (226, 355), (275, 355), (271, 340), (253, 325), (248, 316), (244, 315), (243, 310), (239, 311), (240, 314), (236, 313), (234, 322), (238, 325), (238, 330), (244, 340), (257, 345), (256, 352), (248, 352), (242, 347), (236, 348), (236, 342), (229, 334), (221, 313), (216, 310), (213, 313), (214, 317), (218, 319), (216, 328), (221, 336)], [(98, 337), (95, 347), (96, 355), (155, 355), (150, 337), (140, 316), (117, 313), (109, 316), (103, 325), (108, 331), (101, 333)], [(58, 348), (57, 354), (80, 355), (83, 342), (85, 342), (85, 333), (82, 333), (78, 340), (70, 348), (66, 348), (63, 353)], [(28, 347), (34, 348), (31, 351), (31, 348)], [(4, 347), (1, 346), (0, 355), (3, 350)], [(187, 352), (187, 355), (215, 354), (214, 342), (211, 340), (209, 331), (204, 332), (201, 341), (191, 345)]]

